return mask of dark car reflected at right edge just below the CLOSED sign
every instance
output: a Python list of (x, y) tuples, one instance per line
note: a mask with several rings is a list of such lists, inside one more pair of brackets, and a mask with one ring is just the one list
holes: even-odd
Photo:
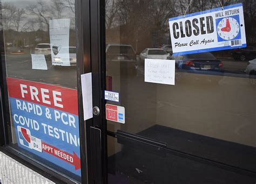
[(246, 60), (256, 58), (256, 47), (247, 46), (245, 48), (234, 49), (231, 52), (234, 59)]

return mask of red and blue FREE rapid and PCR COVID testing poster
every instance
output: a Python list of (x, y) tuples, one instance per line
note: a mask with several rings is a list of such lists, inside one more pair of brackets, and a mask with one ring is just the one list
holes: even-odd
[(7, 83), (18, 146), (80, 176), (77, 90), (15, 78)]

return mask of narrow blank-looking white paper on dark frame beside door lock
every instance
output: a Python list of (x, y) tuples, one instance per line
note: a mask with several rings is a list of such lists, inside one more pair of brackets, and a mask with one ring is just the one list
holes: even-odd
[(92, 118), (92, 73), (81, 75), (84, 120)]

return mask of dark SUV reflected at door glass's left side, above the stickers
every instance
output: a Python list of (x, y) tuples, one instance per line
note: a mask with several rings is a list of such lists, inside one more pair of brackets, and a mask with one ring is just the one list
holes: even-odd
[(134, 74), (136, 73), (136, 63), (136, 52), (131, 45), (106, 44), (106, 66), (108, 73), (122, 73), (122, 71), (129, 70), (129, 73)]

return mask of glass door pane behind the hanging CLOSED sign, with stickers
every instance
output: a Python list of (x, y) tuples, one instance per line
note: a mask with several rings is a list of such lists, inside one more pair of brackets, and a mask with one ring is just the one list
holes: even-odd
[[(225, 12), (238, 3), (247, 46), (177, 54), (169, 18), (221, 6)], [(255, 183), (255, 6), (251, 0), (105, 1), (109, 183)], [(227, 33), (235, 23), (224, 21), (218, 29)], [(207, 31), (210, 23), (202, 23)], [(171, 62), (173, 84), (163, 84), (159, 71), (172, 70), (154, 68)]]

